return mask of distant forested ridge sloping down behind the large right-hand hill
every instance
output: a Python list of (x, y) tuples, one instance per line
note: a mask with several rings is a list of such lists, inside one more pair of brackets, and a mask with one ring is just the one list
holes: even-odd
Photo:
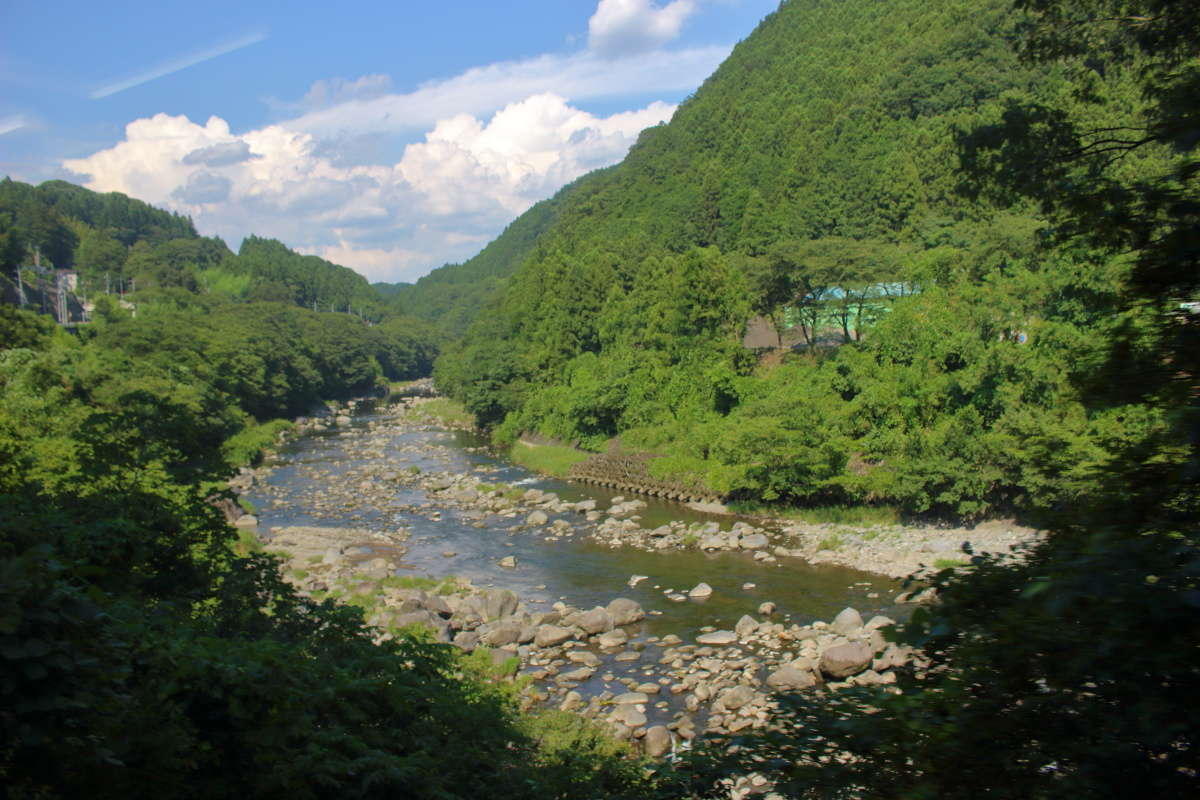
[(400, 313), (430, 320), (446, 337), (461, 338), (529, 255), (538, 237), (558, 219), (565, 198), (583, 181), (595, 180), (602, 172), (586, 175), (548, 200), (535, 204), (462, 264), (440, 266), (414, 284), (376, 283), (374, 288)]

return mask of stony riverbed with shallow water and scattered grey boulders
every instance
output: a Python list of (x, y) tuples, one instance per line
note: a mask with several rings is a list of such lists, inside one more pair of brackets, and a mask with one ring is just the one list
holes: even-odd
[(282, 554), (287, 579), (361, 607), (379, 636), (420, 625), (486, 648), (529, 681), (527, 705), (582, 714), (655, 756), (768, 724), (774, 691), (888, 686), (913, 663), (882, 633), (911, 608), (898, 582), (805, 558), (887, 535), (542, 480), (421, 405), (299, 421), (302, 437), (238, 481), (258, 509), (242, 527)]

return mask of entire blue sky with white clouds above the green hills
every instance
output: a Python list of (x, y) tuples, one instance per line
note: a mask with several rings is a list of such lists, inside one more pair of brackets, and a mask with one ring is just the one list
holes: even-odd
[(0, 174), (413, 281), (619, 161), (778, 0), (7, 0)]

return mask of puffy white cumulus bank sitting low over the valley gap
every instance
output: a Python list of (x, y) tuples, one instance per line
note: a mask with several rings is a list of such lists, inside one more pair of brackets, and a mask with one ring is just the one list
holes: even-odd
[(448, 116), (396, 163), (359, 166), (337, 163), (289, 126), (235, 137), (220, 118), (198, 125), (158, 114), (64, 167), (86, 175), (89, 188), (188, 213), (235, 246), (256, 233), (371, 279), (412, 281), (470, 257), (538, 200), (619, 161), (638, 132), (673, 112), (655, 102), (596, 116), (538, 94), (491, 118)]

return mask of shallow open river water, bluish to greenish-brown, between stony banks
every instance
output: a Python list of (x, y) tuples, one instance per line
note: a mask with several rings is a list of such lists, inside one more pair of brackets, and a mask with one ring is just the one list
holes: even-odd
[[(374, 446), (365, 452), (360, 444), (365, 426), (374, 421)], [(470, 578), (478, 587), (512, 589), (530, 610), (546, 610), (563, 600), (590, 608), (613, 597), (636, 600), (648, 612), (641, 636), (674, 633), (691, 640), (704, 626), (731, 628), (743, 615), (757, 616), (763, 601), (778, 604), (776, 621), (806, 624), (830, 620), (846, 606), (857, 608), (864, 619), (902, 614), (893, 606), (901, 590), (899, 582), (872, 573), (828, 565), (809, 565), (781, 558), (778, 564), (756, 563), (749, 553), (703, 553), (700, 551), (643, 552), (612, 549), (587, 537), (582, 516), (552, 515), (569, 519), (576, 528), (571, 537), (546, 541), (523, 528), (523, 515), (503, 518), (440, 505), (434, 493), (396, 486), (395, 503), (342, 503), (319, 512), (312, 498), (331, 488), (346, 494), (365, 470), (412, 467), (422, 473), (469, 473), (480, 482), (505, 483), (556, 492), (562, 499), (596, 500), (606, 509), (613, 493), (599, 487), (572, 483), (529, 473), (494, 453), (478, 435), (440, 429), (422, 429), (388, 417), (358, 416), (352, 429), (310, 434), (283, 446), (269, 461), (271, 470), (246, 493), (259, 510), (265, 529), (287, 525), (324, 525), (407, 530), (404, 558), (409, 575)], [(350, 493), (353, 495), (353, 493)], [(684, 505), (646, 498), (640, 525), (654, 528), (672, 519), (716, 522), (727, 530), (730, 517), (709, 516)], [(398, 510), (397, 510), (398, 509)], [(482, 518), (480, 518), (482, 517)], [(476, 525), (482, 525), (476, 527)], [(452, 557), (445, 553), (452, 552)], [(515, 555), (516, 569), (498, 566)], [(636, 587), (631, 576), (647, 576)], [(668, 590), (686, 593), (697, 583), (713, 588), (704, 601), (668, 600)]]

